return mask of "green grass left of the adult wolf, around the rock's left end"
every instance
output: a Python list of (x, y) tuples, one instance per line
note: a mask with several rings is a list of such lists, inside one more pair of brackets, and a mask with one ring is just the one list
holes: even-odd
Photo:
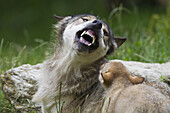
[[(20, 46), (13, 43), (0, 43), (0, 75), (8, 69), (22, 64), (37, 64), (45, 60), (47, 42), (41, 42), (36, 47)], [(1, 87), (1, 83), (0, 83)], [(14, 113), (15, 110), (5, 99), (4, 93), (0, 90), (0, 113)]]

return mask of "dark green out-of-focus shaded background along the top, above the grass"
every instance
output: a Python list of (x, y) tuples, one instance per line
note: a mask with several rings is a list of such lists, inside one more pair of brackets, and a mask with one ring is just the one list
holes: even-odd
[(110, 12), (120, 4), (130, 11), (140, 11), (135, 15), (138, 17), (129, 14), (129, 20), (125, 19), (126, 23), (133, 23), (131, 18), (140, 18), (141, 12), (147, 14), (145, 20), (153, 13), (165, 13), (167, 0), (1, 0), (0, 39), (22, 45), (36, 45), (35, 39), (49, 40), (52, 24), (56, 23), (54, 14), (92, 13), (107, 20)]

